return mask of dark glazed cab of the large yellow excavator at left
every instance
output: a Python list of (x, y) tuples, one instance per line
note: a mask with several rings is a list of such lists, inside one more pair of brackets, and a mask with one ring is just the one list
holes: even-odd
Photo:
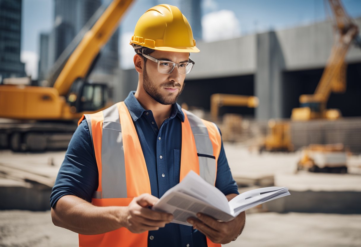
[(106, 84), (89, 83), (77, 79), (66, 97), (71, 113), (96, 111), (107, 106), (109, 101)]

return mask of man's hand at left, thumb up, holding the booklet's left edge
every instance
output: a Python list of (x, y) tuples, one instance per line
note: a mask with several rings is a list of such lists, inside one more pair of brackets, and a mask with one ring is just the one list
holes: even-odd
[(157, 212), (152, 207), (159, 199), (149, 194), (135, 197), (126, 210), (125, 227), (132, 233), (158, 230), (173, 220), (170, 213)]

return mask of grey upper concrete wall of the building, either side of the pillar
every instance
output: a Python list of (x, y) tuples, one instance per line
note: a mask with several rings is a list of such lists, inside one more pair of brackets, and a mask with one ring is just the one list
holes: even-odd
[[(357, 18), (355, 22), (361, 27), (361, 18)], [(333, 24), (331, 21), (325, 21), (274, 31), (284, 57), (284, 69), (324, 67), (334, 42)], [(256, 66), (257, 53), (261, 52), (257, 49), (257, 35), (260, 34), (211, 43), (197, 43), (201, 52), (191, 54), (196, 65), (187, 78), (205, 79), (255, 74), (256, 70), (262, 69)], [(217, 66), (216, 61), (218, 61)], [(361, 62), (361, 49), (351, 45), (346, 61)]]

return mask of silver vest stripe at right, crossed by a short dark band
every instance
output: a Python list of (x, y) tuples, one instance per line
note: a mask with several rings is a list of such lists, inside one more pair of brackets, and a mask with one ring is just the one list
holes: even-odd
[(213, 146), (207, 127), (199, 117), (188, 111), (186, 113), (196, 143), (197, 153), (212, 157), (198, 156), (199, 175), (205, 181), (214, 185), (216, 179), (216, 159), (213, 158)]

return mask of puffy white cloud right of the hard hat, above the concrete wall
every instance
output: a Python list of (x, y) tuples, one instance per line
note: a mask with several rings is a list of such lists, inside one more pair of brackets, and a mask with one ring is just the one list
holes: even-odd
[(231, 10), (219, 10), (202, 17), (202, 36), (205, 42), (239, 37), (240, 24)]

